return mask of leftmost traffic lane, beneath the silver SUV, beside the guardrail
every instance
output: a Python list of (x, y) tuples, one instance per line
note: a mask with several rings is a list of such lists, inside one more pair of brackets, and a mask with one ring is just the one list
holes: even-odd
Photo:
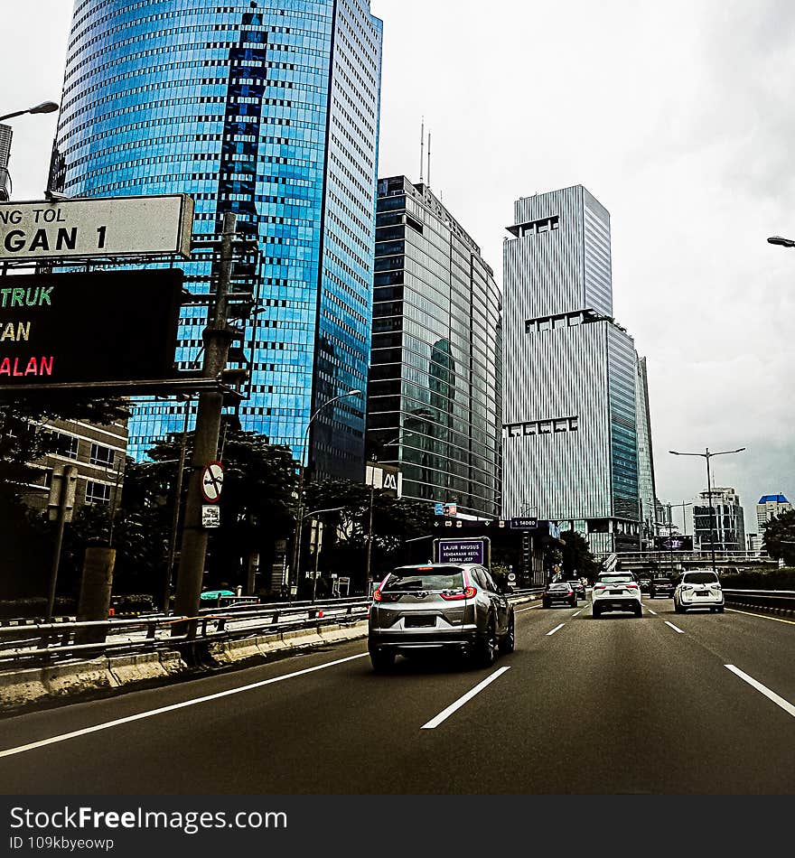
[[(518, 631), (523, 624), (518, 616)], [(358, 653), (356, 652), (358, 648)], [(363, 641), (325, 654), (326, 660), (361, 655)], [(314, 665), (322, 657), (313, 654)], [(299, 662), (298, 664), (291, 664)], [(153, 693), (125, 695), (67, 707), (49, 714), (51, 729), (35, 721), (35, 735), (24, 741), (59, 735), (70, 729), (107, 723), (119, 717), (179, 704), (200, 695), (225, 692), (263, 677), (302, 669), (302, 659), (209, 677)], [(276, 670), (274, 670), (276, 668)], [(270, 676), (273, 674), (273, 676)], [(449, 660), (398, 659), (388, 676), (372, 672), (368, 657), (302, 676), (291, 676), (213, 701), (132, 723), (111, 726), (23, 754), (0, 758), (0, 783), (13, 794), (133, 794), (156, 792), (339, 792), (359, 791), (366, 769), (366, 791), (390, 791), (391, 772), (380, 764), (385, 745), (397, 753), (413, 745), (427, 719), (469, 691), (488, 670), (467, 670)], [(120, 705), (124, 704), (124, 705)], [(132, 704), (132, 705), (131, 705)], [(22, 744), (4, 738), (5, 748)], [(421, 767), (422, 761), (419, 760)], [(443, 790), (444, 791), (444, 790)]]

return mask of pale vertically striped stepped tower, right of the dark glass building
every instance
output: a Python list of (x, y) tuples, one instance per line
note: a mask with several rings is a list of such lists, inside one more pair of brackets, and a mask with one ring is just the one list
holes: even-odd
[(613, 321), (610, 215), (575, 185), (520, 199), (508, 229), (503, 516), (637, 549), (638, 361)]

